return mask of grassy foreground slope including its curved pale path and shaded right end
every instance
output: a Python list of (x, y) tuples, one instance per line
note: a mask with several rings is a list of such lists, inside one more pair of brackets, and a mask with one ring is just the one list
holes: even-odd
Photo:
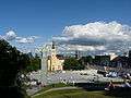
[[(122, 94), (122, 95), (120, 95)], [(128, 95), (127, 95), (128, 94)], [(105, 90), (87, 90), (82, 87), (75, 87), (64, 84), (53, 84), (44, 87), (41, 90), (32, 95), (32, 98), (130, 98), (130, 93), (123, 91), (116, 94)]]

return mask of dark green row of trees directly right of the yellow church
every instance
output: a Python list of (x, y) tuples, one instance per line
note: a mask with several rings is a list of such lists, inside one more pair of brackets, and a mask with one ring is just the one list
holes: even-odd
[(82, 58), (70, 57), (64, 60), (63, 70), (84, 70), (87, 65), (109, 65), (109, 56), (86, 56)]

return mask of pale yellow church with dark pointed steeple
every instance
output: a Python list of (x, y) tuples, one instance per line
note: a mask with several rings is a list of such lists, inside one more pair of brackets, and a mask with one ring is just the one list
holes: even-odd
[(50, 56), (48, 56), (47, 69), (48, 72), (62, 71), (64, 59), (60, 54), (57, 54), (55, 42), (52, 42)]

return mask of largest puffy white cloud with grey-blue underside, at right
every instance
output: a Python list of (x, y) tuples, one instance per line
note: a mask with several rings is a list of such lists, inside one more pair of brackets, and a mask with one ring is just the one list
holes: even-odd
[(131, 26), (117, 22), (66, 26), (62, 37), (53, 39), (61, 45), (75, 46), (72, 49), (123, 51), (131, 47)]

